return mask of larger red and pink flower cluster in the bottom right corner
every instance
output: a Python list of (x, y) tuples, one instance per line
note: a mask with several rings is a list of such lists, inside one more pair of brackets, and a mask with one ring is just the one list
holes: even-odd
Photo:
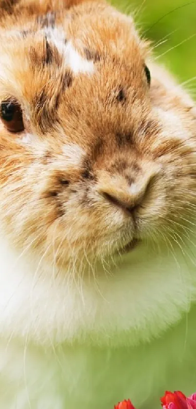
[(160, 398), (163, 409), (196, 409), (196, 393), (187, 398), (182, 392), (166, 391)]

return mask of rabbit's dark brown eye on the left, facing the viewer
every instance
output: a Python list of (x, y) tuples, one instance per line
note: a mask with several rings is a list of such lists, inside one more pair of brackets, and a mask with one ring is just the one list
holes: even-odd
[(22, 110), (17, 101), (7, 100), (0, 104), (0, 118), (9, 132), (24, 130)]

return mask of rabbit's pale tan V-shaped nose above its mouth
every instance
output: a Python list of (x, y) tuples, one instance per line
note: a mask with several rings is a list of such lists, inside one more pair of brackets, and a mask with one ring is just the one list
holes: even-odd
[(129, 181), (120, 175), (107, 177), (106, 180), (105, 175), (103, 184), (99, 183), (98, 191), (109, 204), (132, 215), (150, 192), (154, 177), (154, 173), (150, 173)]

